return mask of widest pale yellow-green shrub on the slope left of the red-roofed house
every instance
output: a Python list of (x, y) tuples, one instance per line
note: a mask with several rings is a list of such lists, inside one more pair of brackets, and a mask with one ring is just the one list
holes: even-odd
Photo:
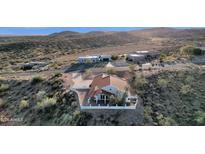
[(45, 97), (41, 101), (37, 102), (37, 108), (44, 109), (46, 107), (50, 107), (52, 105), (55, 105), (56, 103), (57, 103), (56, 98)]

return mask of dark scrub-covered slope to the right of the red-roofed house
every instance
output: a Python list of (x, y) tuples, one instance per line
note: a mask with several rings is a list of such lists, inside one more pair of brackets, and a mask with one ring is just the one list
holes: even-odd
[(135, 79), (132, 85), (143, 100), (145, 125), (205, 125), (205, 69)]

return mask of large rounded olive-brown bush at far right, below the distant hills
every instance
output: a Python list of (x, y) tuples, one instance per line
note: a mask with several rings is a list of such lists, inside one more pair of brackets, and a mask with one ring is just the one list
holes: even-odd
[(192, 45), (186, 45), (180, 48), (182, 55), (202, 55), (203, 51), (200, 48), (196, 48)]

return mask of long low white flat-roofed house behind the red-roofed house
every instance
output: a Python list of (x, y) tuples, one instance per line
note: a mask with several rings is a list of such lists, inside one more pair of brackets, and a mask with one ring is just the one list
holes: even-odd
[(96, 63), (100, 61), (111, 61), (111, 55), (90, 55), (78, 58), (79, 63)]

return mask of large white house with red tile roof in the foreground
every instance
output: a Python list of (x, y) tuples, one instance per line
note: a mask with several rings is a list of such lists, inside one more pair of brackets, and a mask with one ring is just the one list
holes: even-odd
[(117, 76), (101, 74), (93, 79), (87, 94), (87, 102), (90, 104), (109, 104), (113, 103), (111, 97), (120, 99), (125, 97), (123, 103), (126, 101), (130, 103), (129, 96), (128, 83), (125, 80)]

